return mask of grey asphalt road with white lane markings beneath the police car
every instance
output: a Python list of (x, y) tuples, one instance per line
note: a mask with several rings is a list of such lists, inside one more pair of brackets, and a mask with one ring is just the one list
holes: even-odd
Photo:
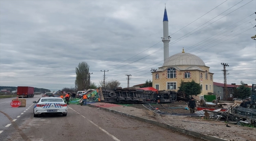
[[(32, 101), (38, 98), (28, 98), (23, 108), (11, 108), (11, 99), (0, 100), (1, 141), (202, 141), (89, 106), (69, 105), (66, 117), (33, 117)], [(11, 125), (5, 127), (7, 124)]]

